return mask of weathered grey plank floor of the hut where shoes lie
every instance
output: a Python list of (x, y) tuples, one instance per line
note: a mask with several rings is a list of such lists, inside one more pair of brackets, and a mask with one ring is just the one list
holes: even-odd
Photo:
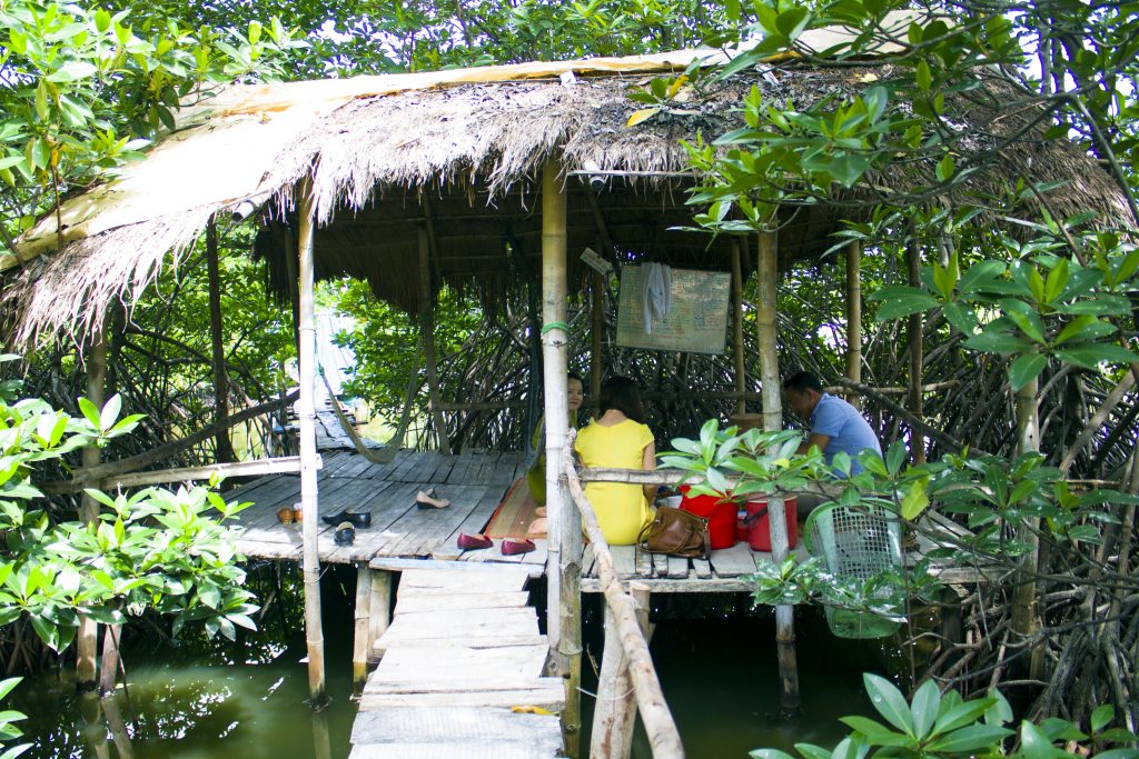
[[(478, 533), (490, 521), (510, 485), (524, 476), (518, 453), (493, 451), (464, 452), (444, 456), (437, 452), (401, 451), (391, 463), (376, 464), (354, 451), (326, 453), (318, 472), (319, 506), (322, 514), (337, 514), (352, 508), (371, 512), (372, 523), (358, 529), (351, 546), (333, 543), (334, 527), (320, 525), (318, 546), (326, 563), (370, 563), (375, 569), (403, 570), (425, 568), (435, 562), (521, 564), (531, 576), (546, 566), (546, 541), (534, 541), (531, 553), (503, 556), (501, 541), (482, 551), (461, 551), (460, 533)], [(442, 510), (416, 508), (416, 492), (434, 487), (451, 501)], [(249, 501), (253, 506), (240, 513), (244, 534), (238, 550), (254, 559), (301, 559), (300, 523), (281, 525), (277, 510), (301, 500), (301, 479), (296, 475), (271, 475), (253, 480), (226, 494), (228, 501)], [(947, 520), (942, 520), (947, 521)], [(948, 530), (941, 526), (939, 529)], [(929, 543), (925, 541), (925, 543)], [(934, 544), (923, 546), (928, 550)], [(794, 548), (806, 556), (802, 537)], [(919, 556), (919, 550), (909, 559)], [(756, 562), (771, 561), (771, 554), (754, 552), (739, 543), (713, 551), (711, 561), (653, 556), (632, 546), (613, 547), (614, 564), (623, 580), (640, 579), (657, 593), (737, 593), (751, 592), (754, 585), (744, 579), (755, 571)], [(427, 563), (421, 563), (426, 561)], [(592, 552), (587, 546), (582, 561), (582, 589), (599, 591)], [(984, 568), (947, 570), (945, 581), (985, 579)]]

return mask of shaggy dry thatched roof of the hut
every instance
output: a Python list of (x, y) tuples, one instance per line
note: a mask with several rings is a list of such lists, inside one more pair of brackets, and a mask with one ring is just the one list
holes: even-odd
[[(710, 245), (706, 236), (671, 230), (691, 223), (680, 140), (738, 126), (740, 97), (753, 85), (772, 101), (806, 104), (829, 92), (862, 89), (867, 72), (795, 65), (739, 75), (626, 126), (629, 115), (641, 107), (629, 100), (630, 92), (659, 72), (683, 67), (695, 55), (231, 92), (211, 112), (186, 116), (192, 125), (158, 146), (123, 180), (65, 205), (63, 250), (27, 263), (17, 286), (7, 289), (18, 314), (14, 336), (23, 341), (42, 331), (80, 332), (101, 323), (114, 297), (137, 294), (166, 254), (177, 256), (213, 214), (249, 198), (262, 205), (256, 255), (270, 262), (270, 281), (286, 296), (286, 255), (295, 255), (287, 253), (286, 240), (295, 224), (293, 196), (297, 181), (310, 173), (320, 223), (317, 275), (360, 277), (379, 297), (408, 311), (420, 305), (420, 229), (431, 237), (435, 283), (476, 287), (487, 305), (536, 272), (541, 220), (535, 180), (551, 157), (559, 157), (565, 171), (575, 281), (583, 281), (576, 254), (606, 241), (620, 255), (727, 267), (727, 240)], [(699, 55), (715, 58), (710, 51)], [(560, 81), (563, 72), (574, 72), (575, 80)], [(998, 115), (984, 109), (967, 114), (977, 140), (993, 140), (1026, 118), (1000, 121)], [(1025, 141), (1006, 148), (1002, 158), (1018, 167), (1008, 174), (1031, 166), (1036, 181), (1065, 181), (1050, 197), (1058, 213), (1090, 209), (1126, 217), (1114, 183), (1073, 146)], [(605, 178), (605, 188), (591, 190), (579, 173)], [(999, 179), (976, 182), (995, 187)], [(883, 181), (896, 183), (899, 178)], [(849, 212), (826, 206), (789, 214), (780, 230), (785, 263), (828, 248), (827, 234), (844, 214)], [(46, 218), (25, 236), (26, 256), (54, 246), (54, 223)]]

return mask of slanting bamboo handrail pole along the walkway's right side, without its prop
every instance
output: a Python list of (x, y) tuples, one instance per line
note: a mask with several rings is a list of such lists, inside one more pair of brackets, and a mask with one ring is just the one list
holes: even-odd
[(645, 635), (637, 621), (637, 605), (617, 579), (617, 572), (613, 566), (613, 554), (609, 553), (609, 544), (605, 539), (605, 534), (601, 533), (601, 526), (597, 522), (593, 506), (585, 497), (581, 480), (577, 478), (577, 470), (573, 461), (575, 437), (576, 431), (571, 429), (562, 454), (563, 470), (570, 485), (570, 495), (581, 511), (585, 534), (593, 546), (593, 558), (597, 560), (597, 575), (601, 592), (605, 594), (605, 603), (613, 612), (621, 640), (621, 649), (629, 661), (629, 675), (633, 682), (633, 693), (637, 696), (637, 707), (641, 712), (641, 721), (645, 724), (645, 732), (653, 746), (653, 757), (656, 759), (682, 759), (685, 746), (680, 742), (680, 732), (669, 711), (669, 704), (664, 701), (661, 680), (653, 667), (653, 655), (648, 651), (648, 643), (645, 641)]

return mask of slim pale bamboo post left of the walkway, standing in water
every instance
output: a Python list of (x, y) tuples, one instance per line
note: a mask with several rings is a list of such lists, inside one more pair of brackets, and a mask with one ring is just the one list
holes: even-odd
[(306, 176), (298, 189), (301, 229), (297, 234), (300, 262), (297, 291), (300, 294), (301, 399), (297, 416), (301, 422), (301, 508), (304, 513), (303, 575), (304, 629), (309, 649), (309, 696), (313, 709), (327, 702), (325, 694), (325, 633), (320, 621), (320, 553), (317, 535), (320, 531), (320, 512), (317, 498), (317, 316), (313, 310), (313, 201), (312, 179)]

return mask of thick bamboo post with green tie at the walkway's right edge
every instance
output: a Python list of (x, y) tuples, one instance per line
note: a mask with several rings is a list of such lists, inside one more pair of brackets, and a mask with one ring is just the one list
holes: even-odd
[(546, 413), (547, 632), (554, 666), (566, 679), (562, 729), (566, 751), (577, 756), (581, 733), (581, 518), (566, 493), (562, 448), (570, 429), (566, 397), (566, 189), (560, 162), (542, 168), (542, 368)]

